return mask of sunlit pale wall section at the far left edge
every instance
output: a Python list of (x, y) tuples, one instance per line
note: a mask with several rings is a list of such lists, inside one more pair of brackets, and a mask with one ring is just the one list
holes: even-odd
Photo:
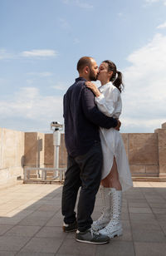
[(24, 132), (0, 128), (0, 188), (22, 175)]

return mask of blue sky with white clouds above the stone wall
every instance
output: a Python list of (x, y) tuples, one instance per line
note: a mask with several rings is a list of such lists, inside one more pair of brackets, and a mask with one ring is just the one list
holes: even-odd
[(166, 122), (166, 0), (0, 0), (0, 127), (63, 123), (83, 56), (123, 73), (121, 132)]

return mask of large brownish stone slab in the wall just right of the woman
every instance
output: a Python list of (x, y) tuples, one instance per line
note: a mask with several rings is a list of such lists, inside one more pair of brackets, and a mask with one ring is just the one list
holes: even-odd
[(158, 165), (158, 134), (129, 134), (129, 164)]

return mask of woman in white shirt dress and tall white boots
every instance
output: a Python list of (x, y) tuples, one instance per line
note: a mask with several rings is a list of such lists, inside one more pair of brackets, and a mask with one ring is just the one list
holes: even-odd
[[(99, 89), (90, 81), (86, 82), (86, 86), (94, 92), (100, 111), (106, 116), (119, 119), (123, 82), (122, 74), (117, 71), (114, 62), (105, 61), (100, 64), (98, 80), (101, 82)], [(93, 222), (92, 228), (113, 238), (122, 234), (122, 191), (128, 190), (133, 182), (120, 132), (113, 128), (107, 130), (100, 127), (100, 139), (104, 157), (100, 185), (103, 212), (100, 218)]]

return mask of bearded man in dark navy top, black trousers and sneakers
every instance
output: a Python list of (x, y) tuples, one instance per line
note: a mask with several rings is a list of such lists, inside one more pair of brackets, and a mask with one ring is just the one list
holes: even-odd
[[(68, 153), (66, 179), (62, 192), (63, 230), (76, 231), (76, 240), (106, 244), (109, 238), (90, 229), (95, 195), (100, 186), (102, 150), (99, 126), (120, 128), (120, 121), (107, 117), (95, 106), (94, 94), (85, 81), (96, 81), (98, 66), (92, 57), (81, 57), (77, 63), (79, 77), (64, 96), (65, 140)], [(76, 198), (81, 187), (76, 213)]]

